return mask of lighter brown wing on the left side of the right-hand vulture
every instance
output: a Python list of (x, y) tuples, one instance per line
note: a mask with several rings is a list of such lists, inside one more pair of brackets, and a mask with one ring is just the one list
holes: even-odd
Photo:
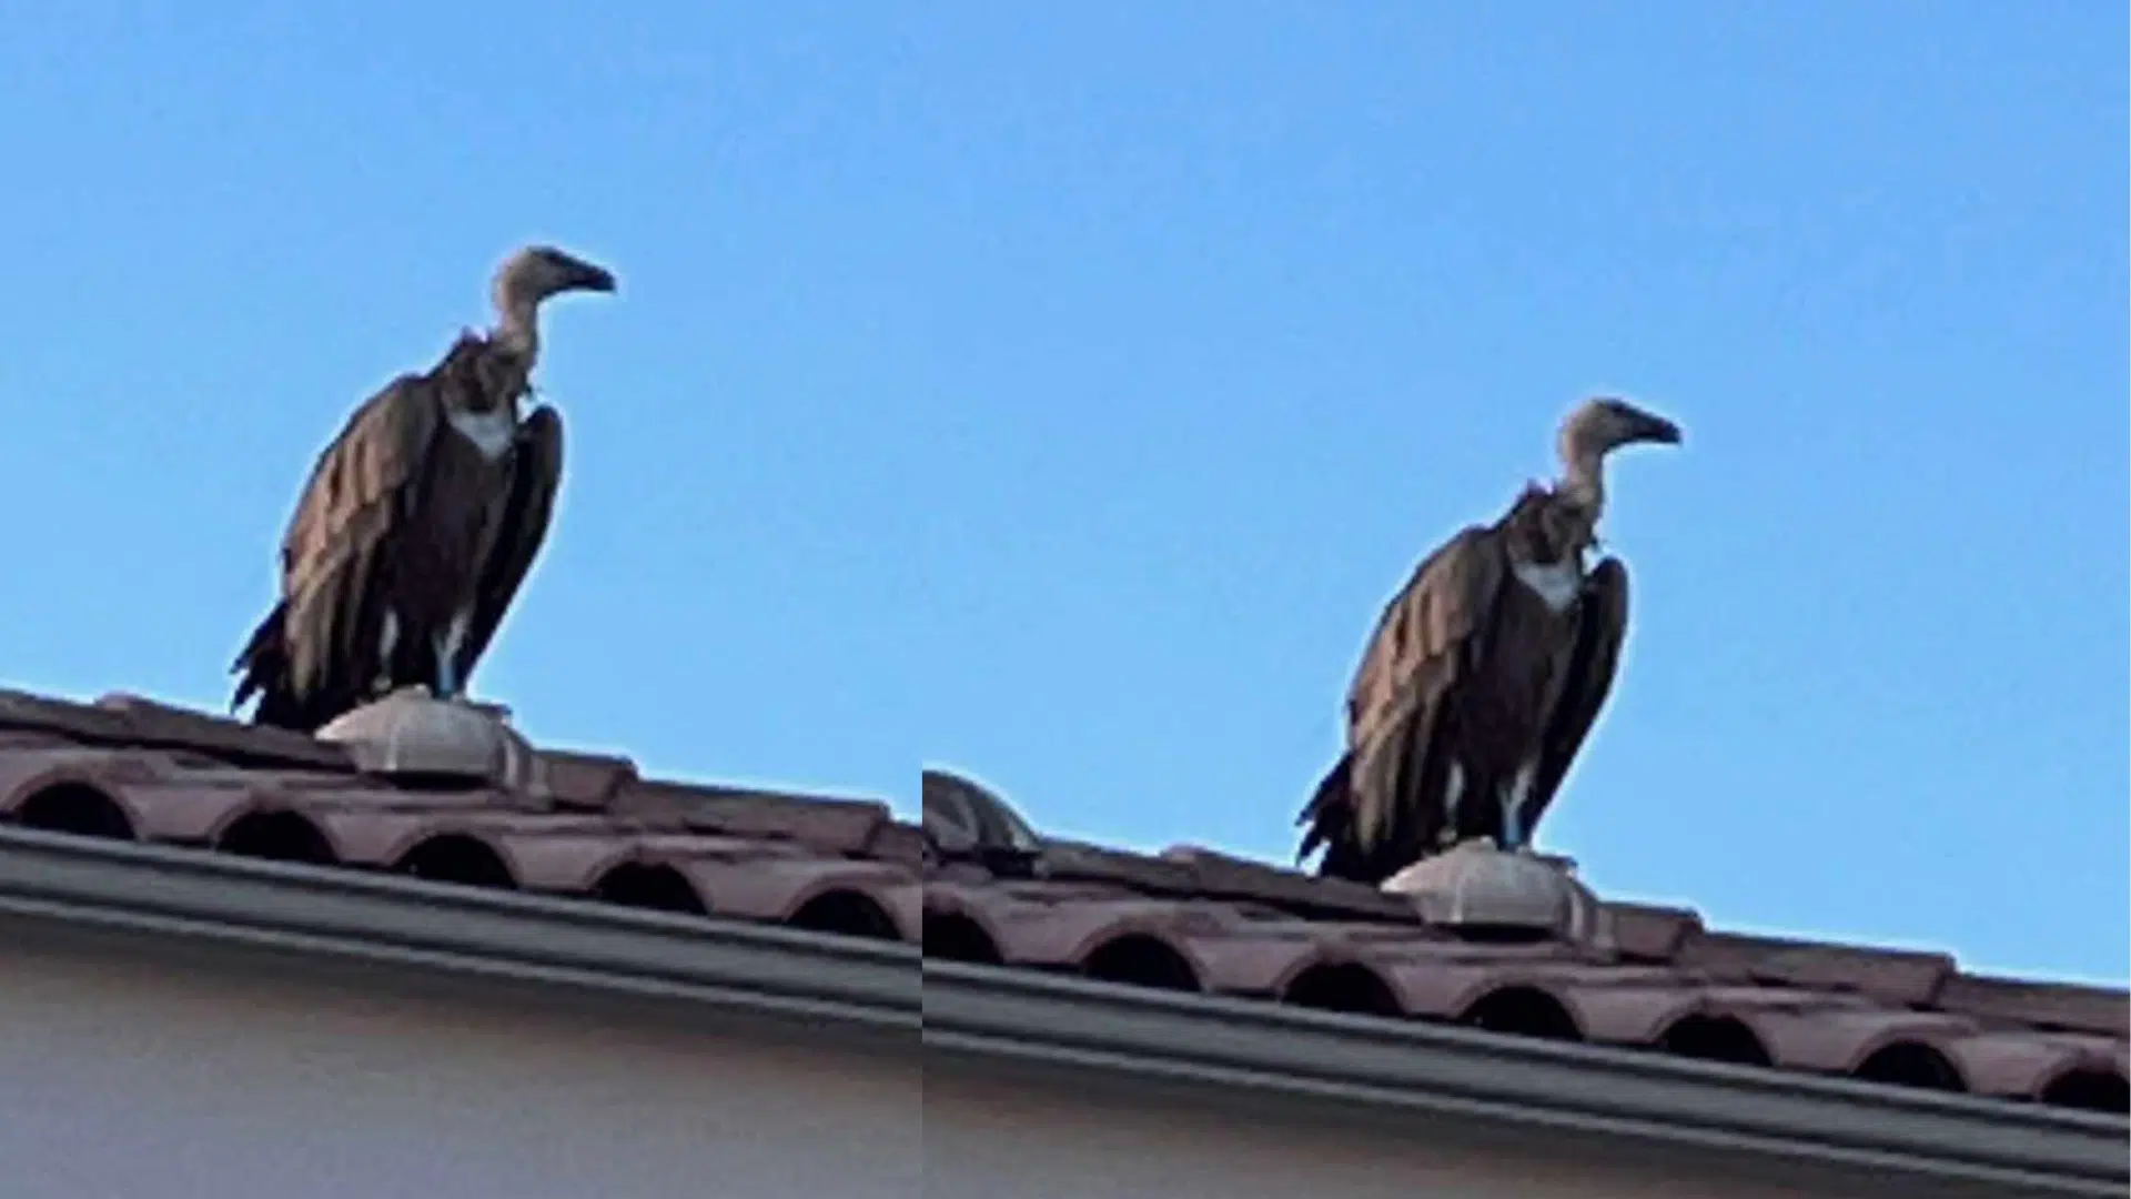
[(1428, 555), (1385, 606), (1347, 691), (1351, 834), (1357, 845), (1419, 853), (1443, 813), (1417, 802), (1441, 796), (1447, 768), (1434, 753), (1449, 689), (1483, 651), (1502, 589), (1500, 538), (1470, 525)]

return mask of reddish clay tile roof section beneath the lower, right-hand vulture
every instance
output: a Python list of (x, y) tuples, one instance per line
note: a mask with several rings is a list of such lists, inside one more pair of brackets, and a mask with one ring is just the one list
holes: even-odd
[(1626, 902), (1600, 905), (1598, 945), (1470, 941), (1424, 924), (1404, 898), (1204, 849), (982, 847), (965, 834), (980, 824), (965, 813), (987, 806), (974, 787), (933, 772), (925, 787), (927, 824), (942, 830), (925, 885), (933, 958), (2131, 1109), (2122, 990), (1733, 934)]

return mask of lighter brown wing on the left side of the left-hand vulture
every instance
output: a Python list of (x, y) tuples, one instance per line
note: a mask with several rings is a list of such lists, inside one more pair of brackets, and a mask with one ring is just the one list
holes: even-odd
[(281, 540), (290, 685), (360, 687), (379, 670), (379, 570), (411, 512), (439, 420), (433, 375), (407, 373), (347, 418), (318, 457)]

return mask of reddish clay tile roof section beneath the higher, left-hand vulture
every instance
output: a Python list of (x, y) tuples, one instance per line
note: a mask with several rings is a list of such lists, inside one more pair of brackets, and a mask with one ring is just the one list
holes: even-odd
[(0, 819), (586, 902), (918, 939), (925, 834), (865, 800), (539, 751), (528, 792), (394, 785), (309, 736), (130, 696), (0, 691)]

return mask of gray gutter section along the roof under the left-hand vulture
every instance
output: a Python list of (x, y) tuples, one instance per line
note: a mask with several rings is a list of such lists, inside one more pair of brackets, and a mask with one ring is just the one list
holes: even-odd
[(914, 945), (0, 828), (0, 917), (908, 1033)]

